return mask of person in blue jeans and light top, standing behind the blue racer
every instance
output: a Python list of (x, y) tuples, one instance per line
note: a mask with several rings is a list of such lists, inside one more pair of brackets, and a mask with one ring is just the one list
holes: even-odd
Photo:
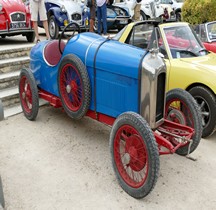
[(98, 19), (98, 34), (101, 34), (101, 20), (103, 24), (103, 34), (107, 35), (107, 1), (97, 0), (97, 19)]

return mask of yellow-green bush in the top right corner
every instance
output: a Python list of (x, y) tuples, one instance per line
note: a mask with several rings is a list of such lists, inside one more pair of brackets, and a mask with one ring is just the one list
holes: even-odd
[(190, 24), (200, 24), (216, 20), (216, 0), (185, 0), (182, 20)]

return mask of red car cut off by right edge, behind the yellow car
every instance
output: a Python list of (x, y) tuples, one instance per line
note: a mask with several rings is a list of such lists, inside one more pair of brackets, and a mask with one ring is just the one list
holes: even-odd
[(196, 25), (194, 29), (205, 48), (216, 53), (216, 21)]

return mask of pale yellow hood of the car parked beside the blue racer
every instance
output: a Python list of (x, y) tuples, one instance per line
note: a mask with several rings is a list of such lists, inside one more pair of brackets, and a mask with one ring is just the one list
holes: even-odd
[(193, 65), (195, 68), (199, 68), (200, 70), (216, 72), (216, 54), (209, 53), (205, 56), (199, 56), (195, 58), (181, 58), (182, 62)]

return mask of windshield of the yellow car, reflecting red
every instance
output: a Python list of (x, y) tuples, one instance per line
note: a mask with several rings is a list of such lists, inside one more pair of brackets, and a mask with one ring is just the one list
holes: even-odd
[(208, 53), (191, 27), (177, 25), (163, 30), (173, 58), (195, 57)]

